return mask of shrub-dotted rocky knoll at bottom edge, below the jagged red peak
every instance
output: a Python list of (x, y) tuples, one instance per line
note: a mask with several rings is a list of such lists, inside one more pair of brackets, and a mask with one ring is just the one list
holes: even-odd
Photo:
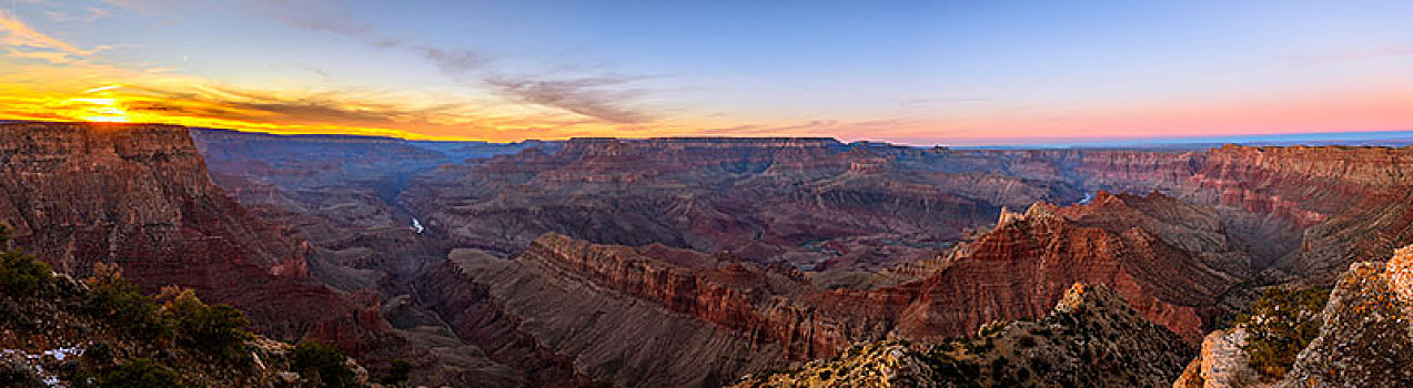
[(859, 344), (735, 387), (1163, 387), (1190, 354), (1113, 291), (1075, 284), (1037, 322), (988, 325), (975, 337), (940, 343)]

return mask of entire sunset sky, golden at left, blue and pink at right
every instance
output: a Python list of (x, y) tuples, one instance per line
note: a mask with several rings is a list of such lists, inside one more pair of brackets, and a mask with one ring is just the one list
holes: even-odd
[(0, 120), (917, 145), (1399, 131), (1413, 1), (0, 0)]

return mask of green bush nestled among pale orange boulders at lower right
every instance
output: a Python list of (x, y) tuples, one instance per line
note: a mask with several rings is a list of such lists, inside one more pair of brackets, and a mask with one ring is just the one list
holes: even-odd
[(1252, 367), (1270, 377), (1284, 375), (1296, 354), (1320, 336), (1320, 312), (1330, 299), (1330, 289), (1267, 288), (1238, 319), (1246, 329), (1242, 350)]

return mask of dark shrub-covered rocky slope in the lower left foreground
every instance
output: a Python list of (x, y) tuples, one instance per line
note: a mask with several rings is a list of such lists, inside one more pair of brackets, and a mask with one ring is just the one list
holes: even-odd
[(0, 248), (0, 387), (369, 387), (326, 344), (247, 333), (191, 289), (144, 296), (113, 268), (75, 281)]

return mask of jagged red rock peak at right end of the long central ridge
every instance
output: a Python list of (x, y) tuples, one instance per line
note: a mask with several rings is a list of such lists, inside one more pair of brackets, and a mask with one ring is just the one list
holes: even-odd
[(1088, 205), (1003, 212), (991, 233), (961, 247), (948, 265), (906, 285), (918, 296), (899, 332), (928, 339), (992, 320), (1039, 317), (1068, 284), (1092, 282), (1197, 343), (1207, 309), (1241, 281), (1239, 272), (1217, 269), (1241, 261), (1224, 238), (1212, 214), (1161, 195), (1101, 192)]

